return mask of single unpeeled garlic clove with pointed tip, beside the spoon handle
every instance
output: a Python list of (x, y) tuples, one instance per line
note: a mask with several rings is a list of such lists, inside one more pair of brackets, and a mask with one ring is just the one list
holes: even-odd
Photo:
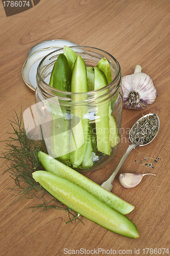
[[(142, 180), (143, 176), (150, 174), (131, 174), (123, 173), (119, 175), (119, 182), (123, 187), (132, 188), (137, 186)], [(155, 175), (155, 174), (151, 174)]]

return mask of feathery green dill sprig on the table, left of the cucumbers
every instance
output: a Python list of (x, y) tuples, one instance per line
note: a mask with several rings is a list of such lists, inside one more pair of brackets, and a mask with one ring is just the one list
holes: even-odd
[[(3, 164), (7, 166), (5, 172), (10, 173), (10, 177), (15, 181), (17, 186), (15, 188), (8, 188), (14, 191), (13, 196), (18, 196), (13, 203), (19, 199), (22, 199), (22, 203), (26, 198), (36, 198), (37, 204), (29, 208), (33, 208), (33, 210), (41, 208), (42, 211), (51, 208), (65, 210), (68, 212), (68, 222), (73, 223), (76, 220), (82, 222), (76, 212), (72, 212), (69, 207), (54, 198), (33, 179), (33, 172), (44, 169), (38, 160), (38, 152), (43, 151), (41, 141), (27, 138), (26, 131), (23, 128), (22, 112), (20, 112), (20, 117), (15, 110), (14, 112), (16, 116), (13, 117), (13, 120), (9, 120), (13, 133), (7, 133), (10, 137), (9, 140), (5, 141), (6, 147), (4, 148), (4, 152), (2, 152), (2, 156), (0, 156), (0, 158), (5, 160)], [(51, 197), (48, 201), (46, 200), (47, 195)]]

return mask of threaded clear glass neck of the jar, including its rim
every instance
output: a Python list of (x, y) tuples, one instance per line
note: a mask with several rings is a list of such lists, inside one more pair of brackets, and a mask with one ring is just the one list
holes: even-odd
[[(118, 92), (121, 93), (122, 74), (119, 63), (109, 53), (92, 47), (70, 47), (77, 54), (80, 54), (85, 60), (86, 66), (95, 67), (99, 60), (103, 57), (107, 58), (110, 64), (112, 81), (107, 84), (106, 87), (96, 91), (90, 91), (85, 93), (71, 93), (57, 90), (48, 85), (49, 78), (54, 66), (54, 63), (60, 53), (63, 53), (63, 49), (54, 51), (46, 55), (40, 62), (37, 69), (37, 94), (38, 97), (43, 99), (49, 99), (57, 97), (61, 104), (64, 105), (91, 105), (103, 102), (110, 98), (114, 98)], [(74, 98), (78, 95), (79, 100), (75, 101)]]

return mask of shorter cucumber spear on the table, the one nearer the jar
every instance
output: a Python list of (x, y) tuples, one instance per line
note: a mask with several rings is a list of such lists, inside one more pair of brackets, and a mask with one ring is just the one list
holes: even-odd
[(121, 212), (122, 214), (129, 214), (129, 212), (134, 209), (133, 205), (117, 197), (110, 191), (86, 178), (84, 175), (76, 172), (76, 170), (54, 159), (53, 157), (40, 151), (38, 153), (38, 159), (47, 172), (53, 173), (79, 185), (100, 201)]

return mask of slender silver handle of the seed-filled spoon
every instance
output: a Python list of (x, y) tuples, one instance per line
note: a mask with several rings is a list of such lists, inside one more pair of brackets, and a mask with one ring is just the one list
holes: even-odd
[(102, 183), (102, 187), (104, 187), (105, 189), (107, 189), (108, 191), (111, 191), (112, 186), (113, 186), (113, 180), (116, 176), (116, 174), (118, 173), (120, 167), (123, 165), (123, 163), (125, 162), (125, 160), (127, 159), (129, 153), (137, 146), (137, 144), (135, 143), (131, 143), (128, 146), (127, 151), (125, 152), (123, 158), (120, 160), (119, 164), (117, 165), (117, 167), (115, 168), (114, 172), (112, 173), (112, 175), (110, 176), (110, 178), (108, 180), (106, 180), (105, 182)]

